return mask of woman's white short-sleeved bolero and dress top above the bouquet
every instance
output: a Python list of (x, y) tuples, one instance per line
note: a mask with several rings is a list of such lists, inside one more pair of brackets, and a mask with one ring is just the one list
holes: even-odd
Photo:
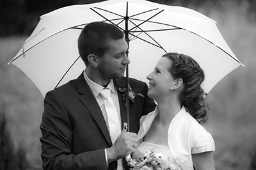
[[(159, 114), (158, 107), (156, 107), (155, 111), (141, 117), (140, 130), (137, 135), (139, 141), (143, 140), (157, 114)], [(179, 160), (179, 164), (184, 166), (183, 169), (186, 170), (193, 169), (192, 154), (215, 150), (211, 134), (186, 111), (184, 106), (171, 121), (167, 138), (168, 146), (163, 146), (165, 149), (162, 150), (159, 145), (154, 145), (156, 146), (155, 152), (163, 152), (164, 155), (169, 157), (171, 155), (171, 158)], [(140, 154), (145, 154), (148, 146), (154, 147), (153, 144), (141, 143), (141, 146), (138, 147)]]

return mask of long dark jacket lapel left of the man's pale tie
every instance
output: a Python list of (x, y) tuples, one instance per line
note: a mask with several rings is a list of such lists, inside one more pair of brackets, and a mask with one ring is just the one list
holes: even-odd
[(82, 94), (79, 99), (83, 103), (84, 107), (86, 107), (88, 112), (92, 115), (93, 119), (95, 120), (100, 130), (102, 131), (102, 134), (108, 141), (109, 146), (112, 146), (108, 127), (102, 115), (102, 111), (100, 110), (97, 100), (93, 96), (92, 90), (90, 89), (87, 82), (85, 81), (83, 77), (83, 73), (78, 77), (77, 84), (78, 84), (78, 92)]

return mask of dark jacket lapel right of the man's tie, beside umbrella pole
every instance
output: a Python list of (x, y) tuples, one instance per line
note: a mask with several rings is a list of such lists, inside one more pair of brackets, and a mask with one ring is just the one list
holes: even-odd
[(124, 126), (124, 122), (127, 123), (127, 107), (125, 107), (125, 101), (122, 100), (123, 96), (122, 93), (119, 91), (119, 88), (125, 88), (126, 87), (126, 81), (125, 79), (114, 79), (114, 84), (117, 89), (118, 93), (118, 101), (120, 105), (120, 114), (121, 114), (121, 122), (122, 122), (122, 128)]

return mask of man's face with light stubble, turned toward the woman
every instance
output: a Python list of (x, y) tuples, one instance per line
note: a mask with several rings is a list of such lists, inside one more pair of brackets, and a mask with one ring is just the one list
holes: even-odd
[(125, 67), (130, 63), (125, 54), (128, 45), (125, 39), (109, 40), (109, 50), (100, 58), (99, 71), (103, 79), (110, 80), (124, 76)]

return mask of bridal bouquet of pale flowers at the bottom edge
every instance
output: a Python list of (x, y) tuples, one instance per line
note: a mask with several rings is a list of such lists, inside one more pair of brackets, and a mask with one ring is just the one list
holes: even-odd
[(184, 170), (185, 168), (179, 158), (170, 158), (163, 153), (155, 153), (152, 147), (149, 147), (143, 159), (136, 160), (127, 156), (126, 161), (131, 170)]

